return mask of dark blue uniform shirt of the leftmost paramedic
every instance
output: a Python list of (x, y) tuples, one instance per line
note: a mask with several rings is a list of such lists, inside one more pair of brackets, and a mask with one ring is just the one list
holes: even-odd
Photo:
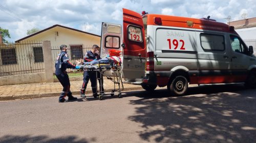
[(66, 71), (67, 68), (75, 69), (76, 66), (69, 62), (69, 55), (66, 51), (61, 51), (58, 54), (55, 62), (56, 71)]

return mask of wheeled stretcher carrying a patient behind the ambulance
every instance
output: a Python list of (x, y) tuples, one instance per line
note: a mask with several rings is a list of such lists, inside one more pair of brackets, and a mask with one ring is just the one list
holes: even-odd
[[(109, 93), (111, 96), (114, 96), (117, 93), (117, 97), (122, 97), (122, 91), (123, 91), (123, 82), (122, 82), (122, 67), (121, 63), (117, 63), (112, 60), (100, 60), (98, 61), (98, 64), (92, 64), (87, 63), (85, 65), (79, 65), (81, 68), (85, 71), (98, 71), (100, 72), (100, 77), (98, 77), (98, 74), (96, 74), (96, 79), (103, 78), (102, 76), (105, 76), (106, 79), (111, 80), (114, 83), (114, 89)], [(111, 73), (111, 74), (110, 74)], [(100, 82), (102, 82), (100, 80)], [(100, 83), (101, 85), (102, 83)], [(96, 82), (97, 85), (97, 82)], [(98, 87), (98, 86), (96, 86)], [(97, 96), (99, 97), (99, 100), (103, 99), (103, 95), (108, 95), (108, 93), (103, 93), (102, 87), (99, 86), (99, 90), (97, 90)], [(96, 95), (94, 95), (94, 98), (97, 98)]]

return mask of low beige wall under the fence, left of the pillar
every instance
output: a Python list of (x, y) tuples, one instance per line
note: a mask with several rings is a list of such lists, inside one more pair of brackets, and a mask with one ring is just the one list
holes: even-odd
[(23, 75), (3, 76), (0, 77), (0, 86), (26, 83), (46, 82), (45, 73), (31, 73)]

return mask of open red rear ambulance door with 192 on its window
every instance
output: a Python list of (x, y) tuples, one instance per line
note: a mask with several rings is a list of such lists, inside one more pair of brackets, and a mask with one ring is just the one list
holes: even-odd
[(123, 78), (142, 82), (145, 75), (146, 48), (143, 20), (139, 13), (123, 9)]

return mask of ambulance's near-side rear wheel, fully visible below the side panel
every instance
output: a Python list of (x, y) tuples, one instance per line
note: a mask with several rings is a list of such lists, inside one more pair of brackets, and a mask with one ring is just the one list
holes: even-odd
[(168, 91), (174, 96), (183, 96), (188, 89), (188, 81), (184, 76), (176, 76), (171, 82), (169, 82)]

